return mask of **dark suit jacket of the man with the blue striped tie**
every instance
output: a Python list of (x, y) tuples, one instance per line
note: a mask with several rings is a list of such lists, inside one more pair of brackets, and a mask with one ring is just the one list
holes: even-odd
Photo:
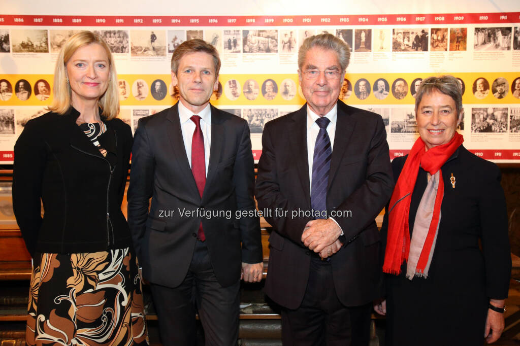
[[(312, 218), (291, 217), (292, 211), (311, 209), (306, 125), (306, 105), (266, 124), (256, 181), (259, 208), (288, 210), (287, 217), (275, 212), (266, 217), (274, 231), (265, 290), (289, 309), (302, 302), (311, 255), (301, 236)], [(327, 211), (352, 211), (350, 217), (333, 215), (346, 240), (331, 264), (337, 296), (345, 305), (361, 305), (379, 295), (380, 237), (374, 218), (393, 187), (381, 116), (338, 101)]]

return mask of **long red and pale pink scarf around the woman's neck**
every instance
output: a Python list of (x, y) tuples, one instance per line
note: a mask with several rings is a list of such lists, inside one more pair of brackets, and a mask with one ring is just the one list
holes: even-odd
[[(445, 144), (425, 151), (421, 137), (415, 141), (402, 167), (388, 207), (388, 234), (385, 249), (383, 272), (398, 275), (401, 263), (407, 263), (407, 278), (428, 276), (433, 250), (440, 222), (440, 206), (444, 197), (443, 174), (440, 169), (450, 156), (460, 147), (464, 138), (455, 132)], [(412, 239), (408, 218), (410, 201), (415, 181), (422, 167), (431, 175), (430, 181), (421, 198), (418, 214), (413, 224)], [(419, 217), (418, 217), (419, 216)], [(410, 257), (409, 257), (410, 256)]]

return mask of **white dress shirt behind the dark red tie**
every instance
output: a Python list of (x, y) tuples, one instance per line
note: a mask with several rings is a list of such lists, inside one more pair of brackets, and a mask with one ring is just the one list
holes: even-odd
[(211, 107), (208, 103), (206, 107), (200, 111), (199, 114), (193, 114), (192, 111), (184, 107), (182, 102), (179, 103), (179, 121), (180, 130), (183, 132), (184, 149), (186, 149), (186, 156), (188, 156), (188, 163), (191, 167), (191, 140), (193, 139), (193, 132), (195, 131), (195, 123), (190, 119), (193, 115), (198, 115), (200, 119), (200, 128), (202, 136), (204, 136), (204, 161), (206, 163), (206, 177), (207, 167), (210, 164), (210, 143), (211, 143)]

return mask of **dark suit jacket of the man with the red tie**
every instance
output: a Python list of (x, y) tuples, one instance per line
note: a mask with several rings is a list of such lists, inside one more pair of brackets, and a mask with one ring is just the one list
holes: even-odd
[[(237, 210), (255, 209), (248, 124), (213, 106), (211, 121), (210, 163), (201, 198), (186, 156), (178, 105), (139, 120), (132, 149), (128, 223), (143, 275), (152, 283), (176, 287), (184, 280), (201, 220), (220, 285), (239, 280), (241, 261), (262, 261), (258, 218), (235, 217)], [(198, 208), (221, 215), (181, 215), (183, 210)]]

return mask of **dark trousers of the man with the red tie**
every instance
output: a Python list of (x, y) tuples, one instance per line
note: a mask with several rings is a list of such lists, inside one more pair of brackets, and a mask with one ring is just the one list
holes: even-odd
[(151, 284), (163, 345), (196, 344), (196, 308), (206, 345), (236, 345), (239, 287), (240, 280), (228, 287), (220, 286), (206, 243), (197, 241), (183, 283), (175, 288)]

